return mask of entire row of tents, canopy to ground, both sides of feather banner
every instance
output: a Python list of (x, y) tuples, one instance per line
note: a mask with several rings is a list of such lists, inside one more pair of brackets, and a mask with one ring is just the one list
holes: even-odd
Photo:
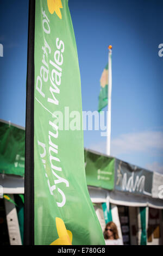
[[(8, 194), (17, 205), (4, 199), (11, 245), (23, 243), (24, 149), (24, 127), (0, 120), (1, 198)], [(112, 220), (117, 224), (124, 244), (128, 244), (128, 229), (133, 233), (130, 235), (130, 244), (147, 244), (149, 210), (159, 210), (158, 222), (162, 221), (160, 212), (163, 209), (163, 200), (159, 197), (163, 175), (92, 150), (85, 149), (84, 155), (87, 186), (102, 229), (106, 222)], [(130, 216), (128, 227), (125, 224), (126, 211)], [(135, 220), (137, 221), (132, 223)], [(157, 221), (151, 224), (150, 229), (153, 225), (157, 228), (154, 231), (158, 230)], [(159, 227), (159, 230), (161, 229), (163, 231), (162, 226)], [(160, 235), (159, 231), (157, 232)], [(153, 234), (156, 234), (156, 231)], [(151, 233), (149, 241), (150, 235)], [(162, 236), (160, 237), (162, 239)]]

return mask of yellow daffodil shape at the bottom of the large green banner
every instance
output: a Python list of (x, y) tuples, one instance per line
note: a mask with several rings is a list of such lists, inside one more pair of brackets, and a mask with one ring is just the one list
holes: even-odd
[(72, 233), (66, 229), (64, 221), (57, 217), (55, 222), (59, 238), (53, 241), (51, 245), (72, 245)]

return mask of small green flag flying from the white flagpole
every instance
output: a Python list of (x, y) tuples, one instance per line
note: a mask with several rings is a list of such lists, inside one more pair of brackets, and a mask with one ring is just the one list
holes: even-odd
[(98, 96), (98, 111), (108, 105), (108, 64), (102, 72), (100, 79), (100, 92)]

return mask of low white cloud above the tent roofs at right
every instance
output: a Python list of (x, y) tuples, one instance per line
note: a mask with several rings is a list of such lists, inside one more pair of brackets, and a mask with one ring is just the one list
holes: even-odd
[[(106, 154), (106, 139), (105, 141), (91, 144), (89, 148)], [(143, 131), (126, 133), (111, 140), (111, 156), (120, 157), (123, 161), (129, 161), (128, 156), (134, 156), (137, 153), (140, 154), (140, 158), (141, 154), (145, 154), (147, 156), (146, 160), (148, 158), (150, 159), (151, 156), (163, 156), (163, 132)], [(137, 164), (139, 165), (139, 162)], [(155, 161), (153, 163), (143, 164), (143, 167), (163, 174), (163, 165), (159, 162)]]

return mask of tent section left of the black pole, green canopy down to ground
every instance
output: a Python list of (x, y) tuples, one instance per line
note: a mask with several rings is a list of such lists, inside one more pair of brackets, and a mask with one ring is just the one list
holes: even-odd
[(24, 127), (0, 120), (0, 217), (5, 234), (2, 245), (23, 243), (24, 143)]

